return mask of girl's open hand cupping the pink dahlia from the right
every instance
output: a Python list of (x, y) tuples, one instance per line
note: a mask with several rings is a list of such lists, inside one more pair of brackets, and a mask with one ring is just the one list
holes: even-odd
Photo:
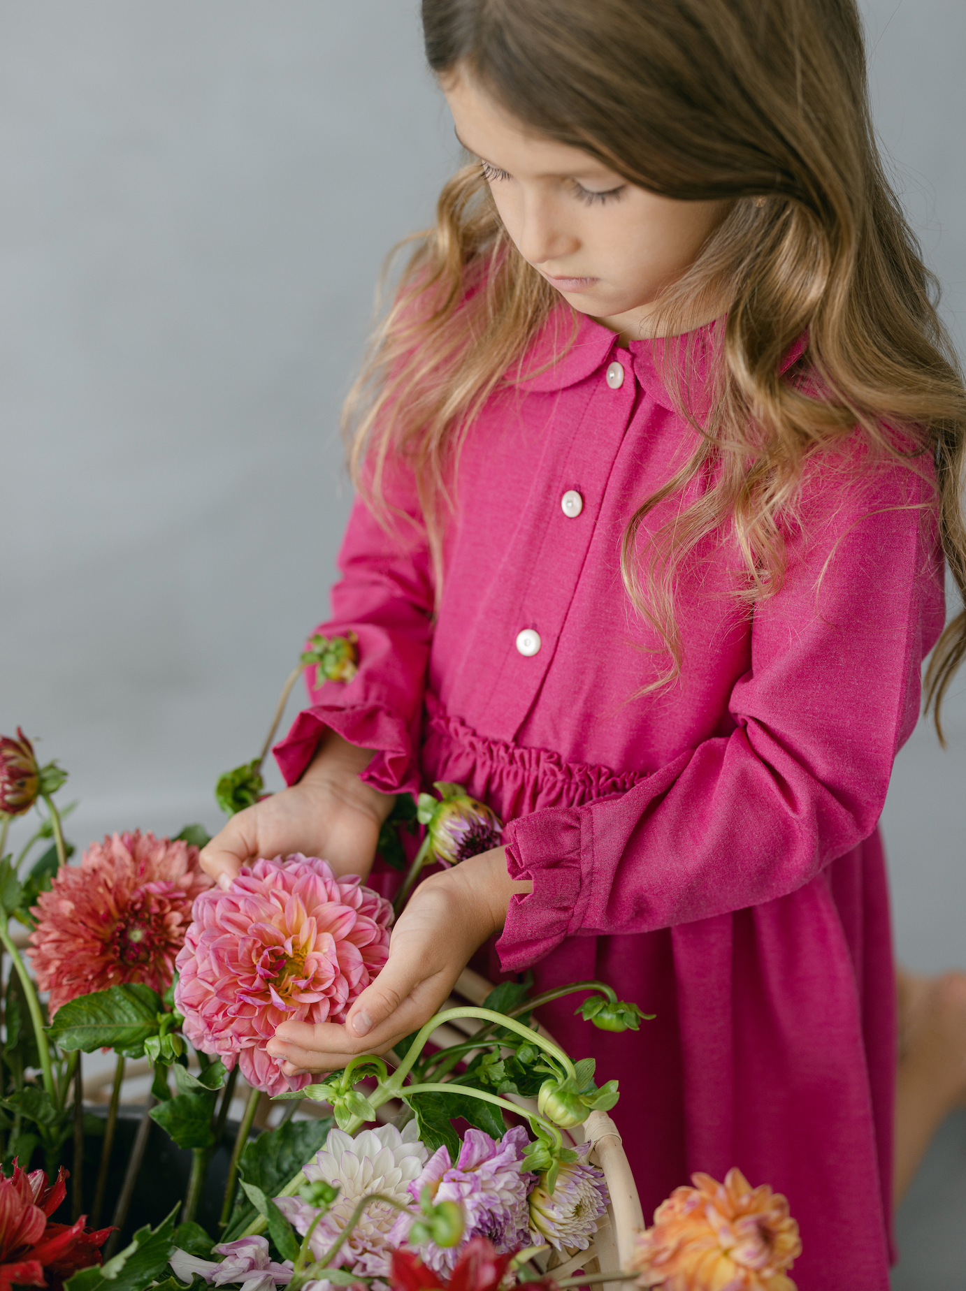
[(282, 1022), (269, 1053), (285, 1059), (285, 1075), (333, 1072), (359, 1053), (385, 1053), (439, 1010), (474, 950), (502, 928), (514, 892), (532, 887), (510, 879), (502, 847), (431, 874), (409, 897), (385, 968), (346, 1021)]

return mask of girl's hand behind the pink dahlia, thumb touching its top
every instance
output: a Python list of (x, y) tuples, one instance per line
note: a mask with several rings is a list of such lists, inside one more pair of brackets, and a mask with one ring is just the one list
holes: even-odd
[(214, 835), (201, 851), (201, 869), (226, 888), (258, 856), (303, 852), (328, 861), (336, 874), (365, 878), (394, 802), (359, 780), (371, 760), (372, 749), (329, 731), (297, 785), (245, 807)]

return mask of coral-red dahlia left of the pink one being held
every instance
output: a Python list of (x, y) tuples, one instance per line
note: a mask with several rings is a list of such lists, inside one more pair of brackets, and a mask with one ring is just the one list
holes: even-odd
[(196, 847), (139, 830), (92, 843), (80, 865), (62, 866), (31, 910), (28, 954), (50, 1015), (128, 981), (164, 994), (194, 900), (211, 886)]

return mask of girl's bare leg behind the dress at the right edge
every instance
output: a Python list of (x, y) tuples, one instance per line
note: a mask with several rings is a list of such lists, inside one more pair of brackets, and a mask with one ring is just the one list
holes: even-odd
[(939, 1124), (966, 1095), (966, 973), (916, 977), (899, 968), (898, 986), (896, 1206)]

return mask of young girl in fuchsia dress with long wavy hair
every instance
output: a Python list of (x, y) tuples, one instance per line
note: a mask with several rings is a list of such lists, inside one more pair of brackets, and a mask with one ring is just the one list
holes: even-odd
[[(350, 402), (359, 498), (291, 785), (209, 846), (365, 875), (456, 781), (504, 847), (430, 875), (345, 1025), (385, 1052), (488, 972), (598, 977), (644, 1214), (785, 1193), (803, 1291), (889, 1285), (895, 981), (877, 820), (966, 574), (966, 399), (876, 151), (854, 0), (424, 0), (475, 160)], [(310, 674), (310, 688), (311, 688)]]

